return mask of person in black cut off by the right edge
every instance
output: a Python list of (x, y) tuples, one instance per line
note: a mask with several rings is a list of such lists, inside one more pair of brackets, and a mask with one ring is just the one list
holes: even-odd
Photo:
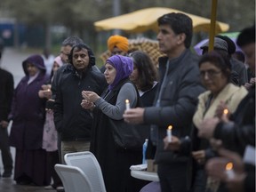
[[(238, 36), (236, 43), (245, 53), (246, 62), (253, 74), (255, 74), (255, 25), (244, 28)], [(228, 182), (226, 181), (226, 184), (233, 189), (228, 188), (229, 191), (255, 191), (255, 86), (248, 90), (248, 94), (240, 102), (232, 116), (230, 116), (228, 123), (222, 121), (215, 121), (214, 123), (212, 119), (207, 119), (201, 124), (199, 136), (211, 140), (221, 140), (225, 148), (233, 152), (235, 151), (240, 155), (241, 162), (243, 158), (244, 165), (246, 165), (244, 166), (244, 171), (247, 175), (244, 180), (241, 180), (243, 188), (239, 190), (236, 185), (237, 183), (231, 183), (229, 182), (231, 180), (229, 180)], [(250, 149), (252, 147), (254, 149)], [(224, 154), (227, 155), (227, 151), (222, 154), (219, 153), (220, 156), (224, 156)], [(235, 155), (226, 157), (231, 156), (234, 157)], [(248, 167), (248, 163), (253, 164), (253, 167)], [(214, 166), (214, 164), (212, 165)], [(236, 170), (236, 164), (234, 168)]]

